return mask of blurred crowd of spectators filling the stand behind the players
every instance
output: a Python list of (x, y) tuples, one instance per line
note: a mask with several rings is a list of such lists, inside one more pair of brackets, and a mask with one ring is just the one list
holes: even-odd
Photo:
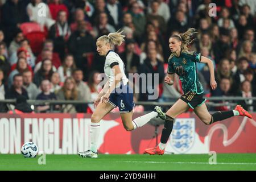
[[(209, 14), (209, 3), (215, 3), (216, 15)], [(0, 0), (0, 99), (93, 101), (105, 61), (96, 52), (96, 40), (122, 29), (126, 40), (115, 51), (126, 73), (158, 73), (154, 89), (159, 97), (151, 101), (174, 101), (183, 91), (177, 78), (172, 86), (163, 82), (171, 53), (168, 39), (189, 27), (198, 32), (191, 51), (215, 66), (218, 86), (213, 91), (207, 65), (197, 63), (205, 96), (255, 97), (255, 15), (255, 0)], [(134, 100), (148, 101), (148, 93), (134, 94)], [(240, 104), (256, 110), (253, 100)], [(65, 108), (68, 113), (93, 110), (90, 104)], [(7, 107), (1, 104), (0, 110)]]

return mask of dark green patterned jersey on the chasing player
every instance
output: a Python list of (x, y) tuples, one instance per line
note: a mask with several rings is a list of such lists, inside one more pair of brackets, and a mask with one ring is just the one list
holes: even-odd
[(201, 94), (204, 92), (196, 72), (196, 62), (200, 63), (201, 53), (187, 52), (182, 50), (177, 57), (173, 52), (168, 60), (169, 74), (176, 73), (180, 77), (184, 93), (189, 91)]

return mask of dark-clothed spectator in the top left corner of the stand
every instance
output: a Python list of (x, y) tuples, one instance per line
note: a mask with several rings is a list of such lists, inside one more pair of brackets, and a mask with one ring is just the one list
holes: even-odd
[[(3, 32), (5, 32), (5, 42), (10, 44), (14, 36), (16, 36), (16, 28), (21, 23), (28, 22), (26, 13), (27, 2), (24, 0), (9, 0), (1, 7), (1, 24)], [(16, 50), (12, 50), (16, 52)], [(10, 53), (13, 53), (13, 52)]]

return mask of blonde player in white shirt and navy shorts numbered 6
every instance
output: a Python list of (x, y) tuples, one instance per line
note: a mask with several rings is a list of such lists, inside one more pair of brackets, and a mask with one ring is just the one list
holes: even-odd
[(84, 158), (97, 158), (97, 144), (100, 136), (100, 121), (115, 107), (119, 107), (119, 113), (126, 131), (135, 130), (145, 125), (150, 119), (160, 117), (165, 119), (166, 115), (159, 106), (154, 111), (136, 119), (133, 117), (133, 90), (128, 85), (128, 78), (125, 75), (125, 65), (117, 53), (112, 50), (115, 45), (120, 46), (125, 36), (122, 31), (103, 35), (97, 39), (97, 52), (105, 56), (104, 72), (108, 81), (94, 101), (95, 111), (92, 114), (90, 123), (91, 148), (85, 152), (78, 152)]

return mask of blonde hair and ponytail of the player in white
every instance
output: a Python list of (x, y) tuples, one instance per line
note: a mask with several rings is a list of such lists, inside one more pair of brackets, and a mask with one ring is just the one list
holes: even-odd
[(109, 35), (102, 35), (100, 38), (97, 39), (105, 42), (106, 44), (109, 43), (110, 46), (120, 46), (123, 41), (125, 41), (125, 35), (122, 35), (123, 30), (118, 30), (117, 32), (110, 33)]

